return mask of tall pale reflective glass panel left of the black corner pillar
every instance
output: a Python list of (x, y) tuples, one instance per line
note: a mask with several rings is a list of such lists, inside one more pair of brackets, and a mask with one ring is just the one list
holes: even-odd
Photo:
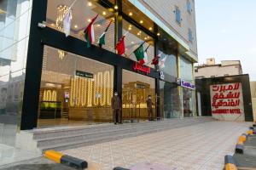
[(15, 146), (20, 127), (31, 12), (30, 0), (0, 1), (0, 144)]

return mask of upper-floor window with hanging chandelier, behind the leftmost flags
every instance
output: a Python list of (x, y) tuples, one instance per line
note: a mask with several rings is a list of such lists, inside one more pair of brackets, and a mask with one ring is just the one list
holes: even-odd
[[(63, 2), (61, 0), (48, 1), (47, 7), (47, 26), (58, 31), (63, 31), (63, 17), (73, 2)], [(104, 4), (107, 6), (107, 3)], [(99, 14), (94, 24), (95, 45), (98, 45), (99, 37), (105, 31), (110, 20), (114, 19), (113, 9), (102, 7), (97, 1), (76, 1), (72, 7), (72, 26), (71, 36), (84, 40), (84, 29), (90, 23), (90, 20)], [(64, 36), (64, 34), (63, 34)], [(84, 40), (85, 41), (85, 40)], [(114, 49), (114, 20), (109, 26), (105, 36), (106, 44), (102, 48), (115, 53)]]

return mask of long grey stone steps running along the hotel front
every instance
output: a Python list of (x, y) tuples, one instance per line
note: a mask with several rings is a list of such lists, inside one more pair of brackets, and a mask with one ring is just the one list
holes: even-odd
[(211, 117), (200, 117), (122, 125), (106, 123), (84, 127), (52, 127), (21, 131), (17, 141), (20, 140), (20, 148), (42, 153), (49, 149), (66, 150), (210, 121), (213, 121)]

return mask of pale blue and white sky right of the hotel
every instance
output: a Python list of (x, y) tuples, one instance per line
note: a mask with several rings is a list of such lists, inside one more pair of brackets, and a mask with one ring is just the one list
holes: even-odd
[(256, 81), (256, 0), (195, 0), (199, 64), (241, 60)]

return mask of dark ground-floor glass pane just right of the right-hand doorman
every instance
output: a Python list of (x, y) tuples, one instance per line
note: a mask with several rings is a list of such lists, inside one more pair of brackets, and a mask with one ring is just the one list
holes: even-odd
[(163, 118), (179, 118), (180, 99), (177, 84), (160, 81), (160, 116)]

